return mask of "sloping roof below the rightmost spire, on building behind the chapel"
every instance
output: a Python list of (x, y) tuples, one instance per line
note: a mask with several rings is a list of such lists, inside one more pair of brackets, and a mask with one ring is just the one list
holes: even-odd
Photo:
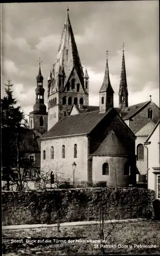
[(122, 117), (124, 120), (129, 119), (131, 116), (133, 116), (138, 110), (140, 110), (142, 108), (142, 106), (145, 106), (146, 104), (149, 104), (149, 101), (145, 101), (139, 104), (135, 104), (132, 106), (128, 106), (124, 109), (122, 109), (120, 112), (122, 114)]

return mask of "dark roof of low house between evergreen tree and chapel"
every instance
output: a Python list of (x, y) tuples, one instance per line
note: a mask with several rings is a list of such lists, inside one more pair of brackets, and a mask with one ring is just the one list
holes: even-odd
[(40, 137), (35, 130), (26, 129), (23, 134), (23, 140), (20, 143), (20, 151), (24, 152), (40, 152)]

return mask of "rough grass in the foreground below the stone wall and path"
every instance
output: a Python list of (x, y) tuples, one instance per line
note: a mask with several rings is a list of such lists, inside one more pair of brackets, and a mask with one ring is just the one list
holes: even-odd
[[(112, 229), (112, 224), (104, 225), (104, 236)], [(99, 239), (98, 225), (60, 227), (30, 228), (3, 230), (3, 255), (85, 255), (100, 254), (100, 248), (94, 247), (95, 243), (25, 243), (25, 238), (48, 238), (57, 239)], [(116, 245), (117, 248), (104, 248), (105, 254), (160, 254), (160, 222), (141, 221), (130, 223), (118, 223), (105, 245)], [(12, 243), (11, 239), (23, 239), (22, 244)], [(118, 244), (121, 248), (118, 248)], [(134, 248), (134, 245), (155, 245), (156, 248)], [(99, 243), (96, 246), (100, 246)], [(127, 248), (123, 246), (126, 245)], [(132, 248), (129, 247), (132, 246)], [(119, 246), (120, 247), (120, 246)], [(122, 248), (123, 247), (123, 248)]]

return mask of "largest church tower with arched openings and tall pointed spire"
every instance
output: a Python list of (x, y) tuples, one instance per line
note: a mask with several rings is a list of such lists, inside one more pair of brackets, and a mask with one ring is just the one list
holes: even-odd
[(73, 104), (88, 105), (88, 79), (84, 78), (67, 9), (58, 54), (48, 77), (48, 130), (70, 115)]

